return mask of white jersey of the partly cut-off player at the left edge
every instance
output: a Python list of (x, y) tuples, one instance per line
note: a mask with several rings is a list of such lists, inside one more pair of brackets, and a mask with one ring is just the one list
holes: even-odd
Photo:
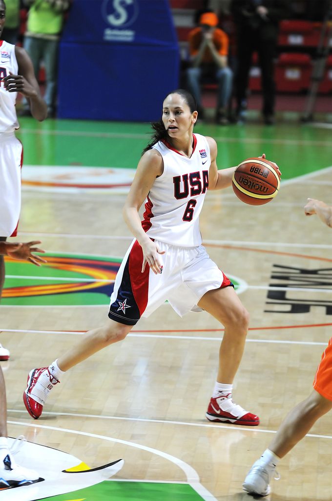
[[(18, 64), (15, 56), (15, 46), (0, 40), (0, 79), (9, 75), (18, 74)], [(15, 110), (17, 92), (8, 92), (0, 83), (0, 133), (12, 132), (18, 129)]]

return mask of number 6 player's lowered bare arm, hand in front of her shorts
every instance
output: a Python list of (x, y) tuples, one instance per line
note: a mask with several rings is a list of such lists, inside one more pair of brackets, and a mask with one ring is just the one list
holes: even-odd
[(138, 162), (136, 174), (123, 207), (123, 218), (142, 247), (142, 272), (146, 264), (148, 264), (155, 274), (160, 273), (158, 254), (163, 253), (158, 251), (155, 243), (143, 230), (138, 210), (147, 197), (156, 177), (160, 176), (162, 172), (163, 161), (161, 155), (154, 149), (146, 151)]

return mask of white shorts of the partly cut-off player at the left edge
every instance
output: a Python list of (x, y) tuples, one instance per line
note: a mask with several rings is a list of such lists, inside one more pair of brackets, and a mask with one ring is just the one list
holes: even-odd
[(22, 143), (13, 132), (0, 133), (0, 236), (15, 236), (21, 205)]

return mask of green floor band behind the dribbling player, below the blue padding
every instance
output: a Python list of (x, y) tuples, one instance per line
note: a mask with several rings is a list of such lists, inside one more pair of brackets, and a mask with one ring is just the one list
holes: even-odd
[[(126, 122), (19, 120), (17, 137), (24, 147), (26, 165), (79, 165), (136, 168), (150, 138), (150, 125)], [(266, 154), (282, 171), (282, 179), (331, 165), (330, 130), (309, 124), (255, 123), (221, 127), (197, 123), (194, 132), (213, 137), (218, 145), (219, 168)]]

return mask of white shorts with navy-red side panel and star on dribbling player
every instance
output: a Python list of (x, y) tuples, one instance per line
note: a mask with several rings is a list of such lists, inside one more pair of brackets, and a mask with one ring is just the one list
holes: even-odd
[(143, 253), (133, 240), (117, 272), (110, 297), (108, 317), (125, 325), (135, 325), (141, 316), (148, 317), (166, 300), (182, 317), (189, 311), (202, 311), (197, 303), (212, 289), (233, 286), (208, 257), (203, 245), (179, 247), (155, 240), (161, 274), (149, 266), (141, 273)]

